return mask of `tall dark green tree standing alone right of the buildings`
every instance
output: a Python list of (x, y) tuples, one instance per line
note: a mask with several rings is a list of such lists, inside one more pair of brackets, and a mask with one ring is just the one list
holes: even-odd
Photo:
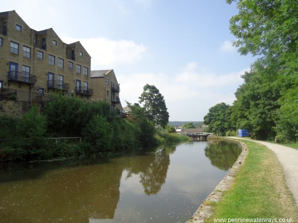
[(154, 85), (146, 84), (139, 99), (139, 102), (144, 104), (148, 119), (155, 125), (166, 126), (169, 121), (169, 113), (159, 90)]

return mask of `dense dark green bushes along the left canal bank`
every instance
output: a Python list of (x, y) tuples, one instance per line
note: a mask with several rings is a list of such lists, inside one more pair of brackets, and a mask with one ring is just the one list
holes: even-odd
[[(0, 156), (2, 160), (104, 156), (188, 140), (166, 133), (162, 127), (155, 128), (146, 108), (130, 104), (129, 107), (132, 118), (124, 119), (110, 111), (108, 103), (56, 95), (42, 108), (33, 106), (21, 118), (0, 116)], [(49, 139), (52, 137), (82, 137), (82, 140), (55, 143)]]

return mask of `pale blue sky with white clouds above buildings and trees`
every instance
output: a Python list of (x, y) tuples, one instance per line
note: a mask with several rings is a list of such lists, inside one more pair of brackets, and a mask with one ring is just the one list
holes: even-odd
[(255, 60), (232, 46), (237, 9), (225, 0), (9, 0), (0, 11), (9, 10), (32, 29), (80, 41), (91, 70), (114, 69), (123, 107), (155, 85), (170, 121), (202, 121), (217, 103), (232, 105)]

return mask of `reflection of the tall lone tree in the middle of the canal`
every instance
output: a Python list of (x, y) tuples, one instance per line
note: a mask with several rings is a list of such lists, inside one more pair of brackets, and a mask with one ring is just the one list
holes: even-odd
[(154, 153), (134, 160), (128, 169), (128, 177), (132, 173), (139, 173), (144, 192), (147, 195), (157, 194), (165, 182), (167, 170), (170, 165), (170, 154), (175, 149), (176, 147), (158, 148)]

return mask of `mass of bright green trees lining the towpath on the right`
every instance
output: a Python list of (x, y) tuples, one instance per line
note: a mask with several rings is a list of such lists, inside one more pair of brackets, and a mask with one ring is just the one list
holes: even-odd
[[(298, 4), (291, 0), (227, 0), (236, 2), (238, 14), (230, 19), (241, 55), (259, 58), (242, 75), (230, 109), (205, 123), (216, 131), (219, 122), (227, 130), (248, 129), (256, 139), (282, 143), (298, 141)], [(213, 119), (208, 118), (212, 116)], [(222, 127), (221, 126), (221, 127)], [(224, 132), (225, 132), (224, 131)]]

